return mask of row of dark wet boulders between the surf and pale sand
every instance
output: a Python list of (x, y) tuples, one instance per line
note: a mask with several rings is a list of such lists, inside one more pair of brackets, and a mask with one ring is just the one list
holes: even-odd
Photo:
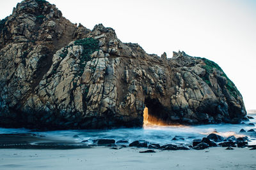
[[(248, 145), (247, 136), (236, 138), (235, 136), (229, 136), (223, 138), (222, 136), (211, 133), (207, 137), (202, 139), (194, 139), (191, 145), (177, 145), (177, 144), (166, 144), (159, 145), (158, 143), (148, 143), (147, 141), (133, 141), (129, 143), (125, 140), (115, 141), (115, 139), (95, 139), (91, 146), (109, 146), (111, 149), (121, 149), (125, 147), (136, 147), (136, 148), (148, 148), (149, 150), (140, 153), (153, 153), (156, 150), (204, 150), (209, 147), (227, 147), (226, 150), (233, 150), (235, 147), (244, 148), (249, 147), (251, 150), (256, 149), (256, 145)], [(87, 141), (83, 141), (87, 142)]]

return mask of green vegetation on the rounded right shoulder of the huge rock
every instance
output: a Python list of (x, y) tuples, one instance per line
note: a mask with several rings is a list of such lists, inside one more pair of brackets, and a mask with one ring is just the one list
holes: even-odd
[(208, 60), (205, 58), (202, 58), (202, 60), (204, 60), (204, 62), (205, 62), (205, 66), (203, 66), (203, 68), (205, 69), (206, 73), (205, 73), (204, 77), (202, 78), (205, 81), (205, 83), (207, 83), (209, 86), (211, 86), (211, 82), (209, 80), (209, 75), (212, 73), (213, 68), (218, 69), (218, 71), (221, 71), (221, 73), (222, 73), (221, 76), (224, 76), (225, 78), (227, 78), (227, 84), (226, 84), (227, 90), (230, 92), (230, 94), (233, 97), (237, 97), (237, 94), (239, 94), (239, 91), (236, 89), (236, 86), (234, 85), (234, 83), (227, 77), (227, 75), (224, 73), (224, 71), (221, 69), (221, 67), (218, 66), (218, 64), (216, 64), (215, 62), (213, 62), (211, 60)]

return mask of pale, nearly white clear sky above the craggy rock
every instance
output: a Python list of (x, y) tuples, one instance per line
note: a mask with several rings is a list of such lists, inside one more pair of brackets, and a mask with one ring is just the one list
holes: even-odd
[[(1, 1), (0, 18), (20, 1)], [(213, 60), (256, 109), (256, 0), (49, 0), (88, 29), (102, 23), (147, 53), (184, 51)]]

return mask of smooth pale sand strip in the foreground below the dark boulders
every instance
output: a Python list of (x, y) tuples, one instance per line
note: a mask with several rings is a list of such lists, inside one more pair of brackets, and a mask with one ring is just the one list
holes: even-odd
[(0, 169), (256, 169), (256, 150), (209, 148), (140, 153), (142, 148), (1, 149)]

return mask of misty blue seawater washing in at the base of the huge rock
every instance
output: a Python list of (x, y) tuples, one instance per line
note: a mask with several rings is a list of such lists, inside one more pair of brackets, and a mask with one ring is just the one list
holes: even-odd
[[(159, 126), (150, 125), (143, 128), (121, 128), (121, 129), (101, 129), (101, 130), (65, 130), (65, 131), (33, 131), (30, 129), (4, 129), (0, 128), (0, 134), (20, 134), (30, 133), (39, 136), (45, 136), (58, 140), (74, 141), (81, 143), (87, 140), (87, 143), (93, 143), (94, 139), (115, 139), (127, 140), (129, 143), (136, 140), (148, 141), (150, 143), (159, 143), (160, 145), (168, 143), (191, 144), (193, 139), (202, 139), (208, 134), (215, 132), (223, 137), (248, 136), (249, 144), (256, 145), (256, 132), (241, 134), (239, 131), (244, 129), (248, 131), (256, 127), (256, 114), (248, 114), (254, 119), (244, 122), (244, 124), (211, 124), (211, 125), (176, 125), (176, 126)], [(173, 140), (176, 138), (177, 140)]]

